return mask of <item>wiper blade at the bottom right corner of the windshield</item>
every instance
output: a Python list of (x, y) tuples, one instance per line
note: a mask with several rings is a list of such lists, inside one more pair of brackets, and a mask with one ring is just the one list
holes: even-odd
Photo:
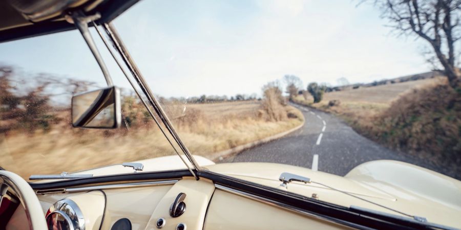
[(458, 229), (454, 227), (445, 226), (442, 224), (428, 222), (427, 219), (424, 217), (418, 217), (418, 216), (413, 216), (412, 218), (404, 217), (404, 216), (394, 215), (390, 213), (366, 209), (366, 208), (362, 208), (360, 206), (355, 206), (355, 205), (350, 205), (349, 210), (355, 213), (365, 214), (370, 217), (377, 217), (379, 219), (389, 220), (392, 222), (399, 221), (402, 223), (411, 223), (411, 224), (416, 224), (416, 225), (425, 226), (425, 227), (434, 227), (438, 229)]

